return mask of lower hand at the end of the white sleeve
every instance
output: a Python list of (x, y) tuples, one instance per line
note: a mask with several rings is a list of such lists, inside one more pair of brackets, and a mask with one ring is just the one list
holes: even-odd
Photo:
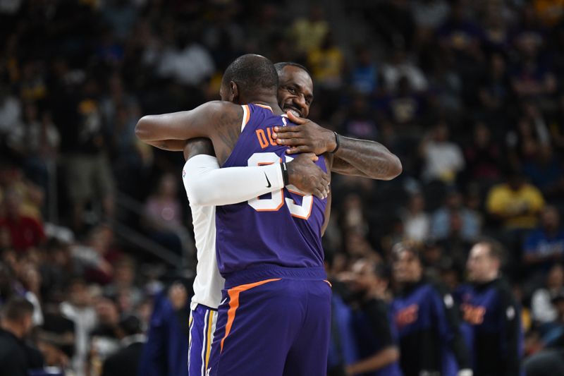
[(317, 159), (315, 154), (306, 153), (288, 162), (288, 180), (302, 192), (324, 199), (329, 195), (329, 175), (315, 164)]

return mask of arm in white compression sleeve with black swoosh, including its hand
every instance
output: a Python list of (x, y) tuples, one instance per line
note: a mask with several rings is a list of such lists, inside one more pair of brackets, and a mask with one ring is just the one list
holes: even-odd
[[(293, 184), (305, 193), (325, 198), (329, 177), (314, 161), (314, 154), (300, 154), (293, 161), (265, 166), (219, 168), (211, 142), (195, 139), (186, 142), (183, 182), (191, 205), (230, 205), (245, 202)], [(284, 170), (287, 171), (286, 178)], [(287, 180), (287, 181), (285, 181)]]

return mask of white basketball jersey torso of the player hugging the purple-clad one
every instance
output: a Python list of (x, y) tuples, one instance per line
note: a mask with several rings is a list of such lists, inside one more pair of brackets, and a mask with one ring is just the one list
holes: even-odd
[[(190, 176), (183, 174), (183, 182)], [(190, 198), (188, 198), (190, 200)], [(219, 274), (216, 260), (216, 207), (192, 206), (192, 225), (197, 249), (194, 296), (190, 308), (202, 304), (217, 309), (221, 302), (221, 290), (225, 280)]]

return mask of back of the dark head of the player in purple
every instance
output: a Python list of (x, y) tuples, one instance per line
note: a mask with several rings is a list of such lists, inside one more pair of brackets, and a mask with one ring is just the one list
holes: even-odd
[(264, 56), (246, 54), (229, 64), (221, 85), (235, 83), (241, 92), (274, 92), (278, 89), (278, 73), (274, 64)]

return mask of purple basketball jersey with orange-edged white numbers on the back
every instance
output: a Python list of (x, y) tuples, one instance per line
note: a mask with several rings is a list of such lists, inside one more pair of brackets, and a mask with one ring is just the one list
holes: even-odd
[[(248, 104), (243, 109), (243, 122), (247, 123), (223, 167), (290, 162), (287, 147), (271, 138), (274, 126), (286, 126), (290, 121), (274, 115), (270, 107)], [(319, 157), (317, 165), (326, 171), (324, 157)], [(269, 185), (266, 176), (264, 184)], [(325, 205), (326, 200), (287, 186), (247, 202), (218, 206), (219, 271), (226, 276), (258, 265), (323, 267)]]

